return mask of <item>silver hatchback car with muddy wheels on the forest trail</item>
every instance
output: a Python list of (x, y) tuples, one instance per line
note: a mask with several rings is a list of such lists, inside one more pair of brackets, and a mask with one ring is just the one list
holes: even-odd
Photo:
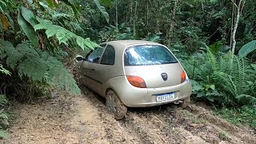
[(178, 59), (156, 42), (122, 40), (100, 44), (85, 58), (77, 57), (82, 82), (106, 98), (107, 109), (121, 119), (128, 107), (181, 103), (192, 93), (189, 78)]

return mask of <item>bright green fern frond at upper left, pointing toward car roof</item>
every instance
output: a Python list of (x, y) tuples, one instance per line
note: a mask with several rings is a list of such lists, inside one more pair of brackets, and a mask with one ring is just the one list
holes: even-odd
[(50, 21), (38, 18), (38, 22), (40, 23), (34, 26), (34, 30), (46, 30), (47, 38), (56, 37), (59, 44), (63, 43), (68, 45), (68, 42), (74, 41), (82, 48), (82, 50), (91, 50), (98, 46), (97, 43), (91, 42), (90, 38), (84, 39), (72, 33), (70, 30), (66, 30), (62, 26), (52, 24)]

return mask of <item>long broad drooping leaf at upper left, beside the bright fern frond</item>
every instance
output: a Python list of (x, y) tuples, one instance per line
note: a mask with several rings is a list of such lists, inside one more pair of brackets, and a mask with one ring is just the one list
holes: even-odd
[(31, 44), (33, 46), (38, 46), (38, 33), (35, 32), (33, 27), (22, 17), (20, 10), (18, 10), (18, 25), (21, 26)]

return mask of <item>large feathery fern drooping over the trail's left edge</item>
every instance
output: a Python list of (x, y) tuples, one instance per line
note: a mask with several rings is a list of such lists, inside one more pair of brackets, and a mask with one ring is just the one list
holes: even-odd
[(6, 64), (17, 70), (21, 77), (28, 77), (34, 82), (46, 82), (49, 86), (80, 94), (74, 78), (57, 58), (26, 44), (14, 47), (10, 42), (0, 40), (0, 43), (6, 54)]

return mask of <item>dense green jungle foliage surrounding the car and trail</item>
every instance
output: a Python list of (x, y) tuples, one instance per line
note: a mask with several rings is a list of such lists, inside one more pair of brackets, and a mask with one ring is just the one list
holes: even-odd
[(79, 94), (63, 63), (118, 39), (168, 46), (196, 100), (255, 109), (255, 11), (254, 0), (0, 0), (0, 137), (7, 99)]

